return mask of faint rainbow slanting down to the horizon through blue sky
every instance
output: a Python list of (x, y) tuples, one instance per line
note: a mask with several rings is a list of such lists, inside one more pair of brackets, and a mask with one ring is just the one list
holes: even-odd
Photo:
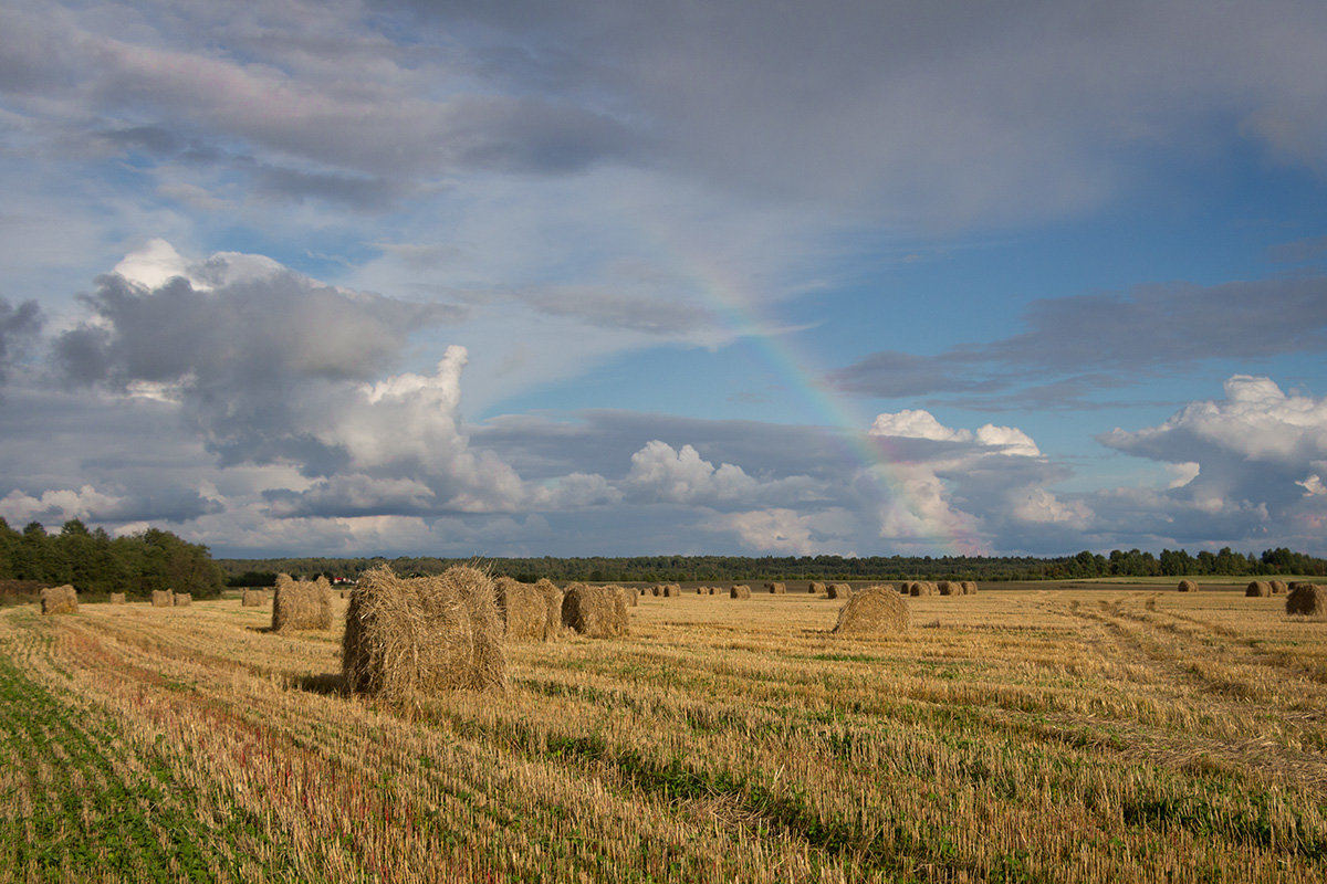
[(867, 480), (860, 486), (871, 494), (876, 510), (884, 513), (886, 508), (902, 506), (914, 514), (918, 525), (933, 526), (933, 530), (920, 530), (904, 542), (940, 555), (971, 555), (982, 550), (971, 530), (951, 510), (945, 510), (940, 525), (934, 524), (936, 518), (926, 518), (917, 496), (898, 476), (896, 463), (900, 459), (894, 456), (889, 440), (865, 431), (871, 420), (855, 412), (843, 395), (824, 383), (827, 371), (795, 346), (792, 335), (771, 331), (772, 326), (763, 319), (756, 301), (746, 294), (739, 280), (694, 249), (686, 254), (677, 248), (667, 250), (674, 258), (673, 266), (685, 269), (686, 278), (723, 327), (734, 337), (754, 342), (756, 351), (788, 390), (833, 431), (831, 439), (845, 463)]

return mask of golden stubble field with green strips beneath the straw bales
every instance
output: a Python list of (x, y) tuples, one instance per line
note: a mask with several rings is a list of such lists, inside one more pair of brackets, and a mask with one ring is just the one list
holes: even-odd
[(0, 881), (1327, 879), (1327, 623), (1283, 598), (986, 590), (841, 640), (803, 587), (407, 705), (238, 599), (0, 611)]

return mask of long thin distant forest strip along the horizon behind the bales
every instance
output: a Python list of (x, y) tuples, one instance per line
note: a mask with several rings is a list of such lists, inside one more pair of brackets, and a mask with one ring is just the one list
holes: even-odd
[(292, 577), (354, 579), (368, 569), (390, 565), (397, 574), (439, 574), (453, 565), (479, 563), (495, 574), (523, 582), (539, 578), (618, 583), (683, 583), (731, 580), (1064, 580), (1091, 577), (1202, 577), (1210, 574), (1265, 577), (1292, 574), (1322, 577), (1327, 559), (1287, 549), (1262, 555), (1206, 550), (1115, 550), (1109, 555), (1083, 551), (1059, 558), (914, 555), (802, 555), (760, 558), (744, 555), (634, 555), (621, 558), (276, 558), (218, 559), (231, 586), (269, 586), (277, 573)]

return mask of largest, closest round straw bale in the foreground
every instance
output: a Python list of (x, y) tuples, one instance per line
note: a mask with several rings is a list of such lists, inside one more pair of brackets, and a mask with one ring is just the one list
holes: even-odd
[(411, 579), (386, 566), (365, 571), (345, 612), (342, 683), (386, 697), (503, 688), (496, 596), (492, 580), (466, 566)]

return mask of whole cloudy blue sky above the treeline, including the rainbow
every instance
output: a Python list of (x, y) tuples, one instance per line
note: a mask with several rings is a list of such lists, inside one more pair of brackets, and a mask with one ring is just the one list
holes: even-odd
[(1327, 4), (0, 0), (0, 517), (1327, 555)]

